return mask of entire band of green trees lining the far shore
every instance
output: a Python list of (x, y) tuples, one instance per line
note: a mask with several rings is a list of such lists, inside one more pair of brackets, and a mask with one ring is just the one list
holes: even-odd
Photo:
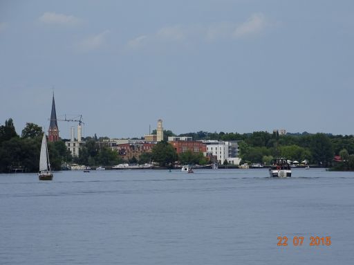
[[(165, 136), (174, 136), (172, 131), (165, 131)], [(12, 119), (0, 125), (0, 172), (10, 172), (13, 168), (22, 168), (35, 172), (39, 165), (39, 150), (42, 128), (28, 122), (17, 134)], [(331, 167), (333, 170), (354, 170), (354, 136), (332, 134), (286, 134), (254, 131), (250, 134), (238, 133), (196, 133), (180, 134), (193, 140), (238, 140), (241, 163), (262, 163), (268, 165), (273, 158), (284, 157), (292, 161), (306, 161), (311, 165)], [(152, 153), (143, 153), (139, 159), (133, 157), (123, 161), (122, 157), (111, 148), (100, 145), (95, 137), (84, 138), (86, 144), (80, 150), (80, 156), (72, 157), (66, 149), (64, 140), (48, 143), (50, 164), (54, 170), (60, 170), (63, 163), (80, 165), (117, 165), (118, 163), (151, 163), (169, 166), (179, 161), (180, 164), (205, 165), (208, 161), (203, 154), (185, 152), (176, 154), (167, 139), (153, 147)], [(334, 159), (339, 157), (340, 159)]]

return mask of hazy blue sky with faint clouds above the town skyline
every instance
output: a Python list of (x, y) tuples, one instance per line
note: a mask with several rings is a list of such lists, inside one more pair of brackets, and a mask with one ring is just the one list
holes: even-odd
[(0, 125), (354, 134), (353, 47), (351, 0), (0, 0)]

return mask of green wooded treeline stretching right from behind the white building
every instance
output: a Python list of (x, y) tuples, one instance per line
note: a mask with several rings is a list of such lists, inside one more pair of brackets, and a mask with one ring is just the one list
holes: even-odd
[[(330, 167), (335, 155), (348, 153), (348, 159), (354, 155), (354, 136), (332, 134), (286, 134), (268, 133), (267, 131), (254, 131), (252, 134), (238, 133), (209, 133), (198, 131), (196, 133), (180, 134), (190, 136), (194, 140), (240, 140), (239, 156), (241, 163), (270, 163), (275, 157), (284, 157), (292, 161), (308, 161), (310, 164)], [(344, 152), (344, 153), (343, 153)], [(341, 156), (342, 157), (342, 156)], [(343, 160), (343, 159), (342, 159)], [(350, 163), (346, 169), (354, 170)]]

